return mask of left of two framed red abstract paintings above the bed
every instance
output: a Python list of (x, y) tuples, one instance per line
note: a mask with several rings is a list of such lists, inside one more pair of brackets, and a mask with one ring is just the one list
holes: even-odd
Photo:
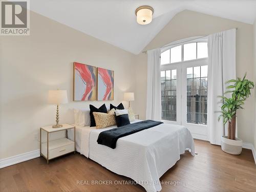
[(96, 67), (74, 62), (74, 101), (95, 101), (96, 86)]

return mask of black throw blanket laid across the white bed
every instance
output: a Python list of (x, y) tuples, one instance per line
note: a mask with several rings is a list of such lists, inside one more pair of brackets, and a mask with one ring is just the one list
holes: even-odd
[(153, 126), (162, 124), (160, 121), (145, 120), (137, 123), (131, 123), (124, 126), (120, 126), (111, 130), (103, 131), (99, 134), (97, 139), (98, 144), (106, 145), (111, 148), (116, 148), (117, 139), (140, 132), (145, 129), (149, 129)]

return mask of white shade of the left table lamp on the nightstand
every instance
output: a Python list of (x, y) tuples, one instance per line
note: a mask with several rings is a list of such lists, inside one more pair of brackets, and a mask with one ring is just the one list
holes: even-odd
[(67, 90), (49, 90), (48, 103), (49, 104), (68, 103)]

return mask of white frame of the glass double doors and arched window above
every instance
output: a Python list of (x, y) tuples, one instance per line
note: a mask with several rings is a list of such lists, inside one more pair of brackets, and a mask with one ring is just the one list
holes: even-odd
[[(199, 58), (199, 59), (191, 59), (184, 61), (184, 44), (189, 44), (191, 42), (208, 42), (207, 38), (195, 39), (194, 40), (187, 40), (182, 39), (180, 41), (176, 41), (168, 47), (161, 49), (161, 53), (172, 49), (174, 47), (181, 45), (181, 60), (179, 62), (167, 63), (160, 65), (160, 71), (166, 70), (177, 70), (177, 90), (176, 90), (176, 121), (170, 120), (162, 120), (164, 123), (169, 124), (181, 124), (187, 127), (187, 129), (191, 132), (194, 138), (207, 140), (208, 135), (208, 109), (207, 109), (207, 124), (195, 124), (195, 123), (188, 123), (187, 122), (187, 71), (186, 69), (189, 67), (199, 67), (199, 66), (208, 66), (208, 57)], [(191, 39), (191, 38), (190, 38)], [(183, 41), (183, 42), (182, 42)], [(197, 56), (197, 47), (196, 47), (196, 56)], [(209, 71), (208, 71), (209, 73)], [(208, 76), (208, 75), (207, 75)], [(183, 85), (183, 86), (182, 86)], [(178, 89), (181, 87), (181, 89)], [(208, 86), (209, 89), (209, 86)], [(207, 92), (207, 100), (209, 100), (208, 92)], [(208, 106), (207, 106), (208, 108)], [(181, 109), (178, 111), (178, 109)]]

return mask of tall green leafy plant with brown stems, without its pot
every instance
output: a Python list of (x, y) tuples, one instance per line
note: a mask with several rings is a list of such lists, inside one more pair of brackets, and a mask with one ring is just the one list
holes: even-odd
[(223, 119), (223, 124), (225, 125), (228, 122), (228, 139), (236, 139), (236, 117), (237, 117), (237, 110), (243, 109), (242, 105), (244, 101), (251, 95), (250, 90), (254, 88), (254, 83), (248, 79), (238, 78), (238, 79), (231, 79), (226, 83), (233, 83), (232, 85), (228, 86), (228, 90), (224, 93), (232, 93), (231, 98), (227, 98), (225, 96), (220, 96), (223, 102), (221, 106), (221, 115), (218, 117), (218, 121), (220, 118)]

